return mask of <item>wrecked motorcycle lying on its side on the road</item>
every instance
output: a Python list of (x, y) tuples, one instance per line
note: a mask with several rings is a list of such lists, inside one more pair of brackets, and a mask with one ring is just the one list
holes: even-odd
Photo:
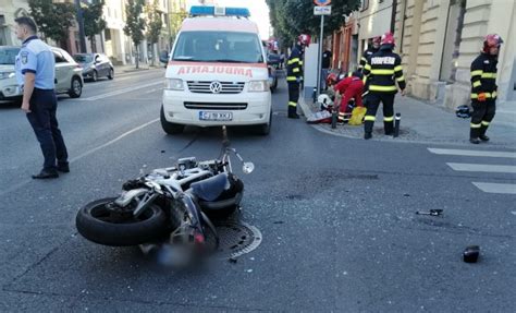
[(222, 134), (219, 158), (181, 158), (173, 167), (126, 181), (118, 197), (86, 204), (76, 216), (78, 232), (103, 245), (165, 242), (201, 254), (217, 250), (219, 237), (210, 217), (233, 214), (244, 193), (244, 183), (232, 171), (231, 155), (243, 164), (244, 173), (255, 168), (230, 146), (225, 127)]

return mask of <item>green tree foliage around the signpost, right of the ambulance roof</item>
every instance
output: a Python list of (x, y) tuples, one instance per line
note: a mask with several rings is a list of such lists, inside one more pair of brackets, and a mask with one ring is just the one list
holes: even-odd
[[(291, 46), (302, 33), (318, 36), (320, 16), (314, 15), (314, 1), (309, 0), (266, 0), (274, 36), (283, 47)], [(324, 16), (324, 34), (331, 34), (344, 24), (344, 15), (357, 10), (360, 0), (333, 0), (332, 14)]]

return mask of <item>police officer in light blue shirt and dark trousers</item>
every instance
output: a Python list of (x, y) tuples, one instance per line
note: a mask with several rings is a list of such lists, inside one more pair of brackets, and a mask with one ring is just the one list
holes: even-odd
[(37, 26), (30, 17), (19, 17), (15, 33), (23, 41), (16, 56), (16, 80), (23, 89), (22, 110), (26, 112), (41, 146), (45, 162), (34, 179), (59, 177), (69, 172), (66, 146), (56, 118), (56, 60), (50, 47), (36, 36)]

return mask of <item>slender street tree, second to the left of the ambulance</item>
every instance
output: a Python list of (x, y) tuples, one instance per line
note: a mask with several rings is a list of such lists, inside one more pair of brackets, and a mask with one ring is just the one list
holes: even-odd
[(142, 19), (142, 13), (144, 10), (144, 0), (127, 0), (125, 5), (125, 27), (124, 33), (127, 36), (131, 36), (133, 44), (136, 48), (136, 69), (139, 64), (139, 43), (144, 40), (144, 31), (145, 31), (145, 20)]

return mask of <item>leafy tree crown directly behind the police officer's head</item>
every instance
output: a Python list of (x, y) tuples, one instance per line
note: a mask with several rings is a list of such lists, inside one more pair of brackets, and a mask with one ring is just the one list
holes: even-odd
[(34, 22), (45, 34), (45, 37), (69, 50), (66, 39), (69, 29), (75, 21), (75, 5), (73, 3), (53, 3), (48, 0), (28, 0), (28, 7)]

